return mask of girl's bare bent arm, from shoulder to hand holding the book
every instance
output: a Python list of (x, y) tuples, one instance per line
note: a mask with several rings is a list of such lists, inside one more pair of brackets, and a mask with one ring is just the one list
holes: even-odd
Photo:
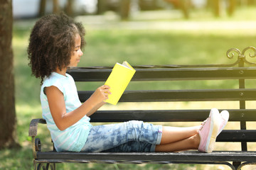
[(50, 113), (57, 127), (60, 130), (65, 130), (77, 123), (84, 115), (90, 116), (95, 113), (98, 108), (105, 104), (104, 101), (111, 94), (109, 89), (110, 86), (100, 86), (79, 108), (67, 113), (63, 93), (55, 86), (46, 87), (45, 93), (48, 98)]

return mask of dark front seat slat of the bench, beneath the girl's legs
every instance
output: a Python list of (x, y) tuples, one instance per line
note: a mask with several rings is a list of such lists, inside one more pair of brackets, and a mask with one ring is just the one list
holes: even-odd
[[(49, 160), (58, 162), (59, 159), (67, 159), (70, 162), (76, 160), (87, 160), (92, 162), (114, 160), (118, 161), (137, 161), (142, 162), (175, 162), (184, 161), (186, 162), (254, 162), (256, 159), (256, 152), (212, 152), (212, 153), (200, 153), (200, 152), (166, 152), (166, 153), (85, 153), (85, 152), (38, 152), (38, 159)], [(72, 160), (72, 161), (71, 161)]]

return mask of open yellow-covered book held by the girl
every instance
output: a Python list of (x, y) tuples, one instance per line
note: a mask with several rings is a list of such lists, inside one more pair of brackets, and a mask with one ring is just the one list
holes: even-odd
[(111, 91), (109, 98), (105, 102), (116, 105), (135, 72), (136, 70), (128, 62), (125, 61), (122, 64), (117, 62), (112, 69), (110, 77), (105, 82), (105, 85), (110, 86)]

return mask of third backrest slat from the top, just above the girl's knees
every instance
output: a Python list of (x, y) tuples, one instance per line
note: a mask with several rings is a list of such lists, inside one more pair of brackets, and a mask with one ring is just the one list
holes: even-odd
[[(209, 112), (210, 109), (97, 111), (90, 116), (90, 122), (117, 123), (129, 120), (142, 120), (144, 122), (201, 122), (208, 117)], [(228, 112), (230, 113), (229, 121), (256, 121), (256, 109), (228, 109)]]

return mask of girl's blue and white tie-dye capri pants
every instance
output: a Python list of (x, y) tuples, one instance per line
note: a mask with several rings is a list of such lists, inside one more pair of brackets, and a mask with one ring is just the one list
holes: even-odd
[(132, 120), (93, 126), (81, 152), (154, 152), (162, 126)]

